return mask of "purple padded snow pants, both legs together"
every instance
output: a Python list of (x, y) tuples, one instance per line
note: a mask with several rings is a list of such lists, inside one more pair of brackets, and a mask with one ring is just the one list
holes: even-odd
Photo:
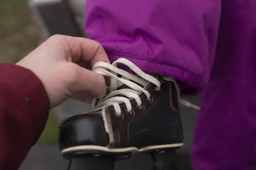
[(204, 91), (192, 164), (196, 170), (256, 167), (255, 0), (88, 0), (86, 32), (111, 61)]

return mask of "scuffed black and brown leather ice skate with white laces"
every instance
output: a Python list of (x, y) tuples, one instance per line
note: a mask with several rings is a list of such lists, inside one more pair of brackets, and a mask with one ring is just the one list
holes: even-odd
[[(117, 68), (117, 63), (137, 76)], [(174, 79), (146, 74), (125, 58), (112, 65), (97, 62), (93, 69), (111, 76), (109, 93), (90, 112), (62, 121), (59, 148), (63, 157), (76, 162), (79, 158), (92, 169), (112, 169), (115, 159), (127, 159), (131, 153), (166, 153), (183, 145)]]

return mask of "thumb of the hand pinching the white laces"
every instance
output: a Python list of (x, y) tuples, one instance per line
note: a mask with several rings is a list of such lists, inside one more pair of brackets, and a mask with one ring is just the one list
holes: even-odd
[(86, 92), (92, 97), (102, 98), (106, 94), (107, 86), (103, 75), (95, 73), (75, 64), (74, 80), (71, 92)]

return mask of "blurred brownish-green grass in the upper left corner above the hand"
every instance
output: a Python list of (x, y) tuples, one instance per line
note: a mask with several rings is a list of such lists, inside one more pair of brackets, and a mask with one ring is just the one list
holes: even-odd
[(27, 0), (0, 1), (0, 63), (16, 63), (36, 48), (38, 35)]

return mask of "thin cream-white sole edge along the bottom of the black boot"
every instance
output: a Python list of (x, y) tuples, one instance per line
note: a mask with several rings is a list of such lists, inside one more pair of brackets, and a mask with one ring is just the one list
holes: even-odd
[(163, 149), (163, 148), (175, 148), (182, 146), (183, 143), (175, 143), (175, 144), (166, 144), (166, 145), (155, 145), (155, 146), (146, 146), (143, 148), (136, 148), (136, 147), (128, 147), (128, 148), (108, 148), (105, 146), (97, 146), (97, 145), (81, 145), (81, 146), (73, 146), (61, 151), (61, 154), (73, 151), (84, 151), (84, 150), (97, 150), (97, 151), (104, 151), (104, 152), (143, 152), (143, 151), (150, 151), (155, 149)]

